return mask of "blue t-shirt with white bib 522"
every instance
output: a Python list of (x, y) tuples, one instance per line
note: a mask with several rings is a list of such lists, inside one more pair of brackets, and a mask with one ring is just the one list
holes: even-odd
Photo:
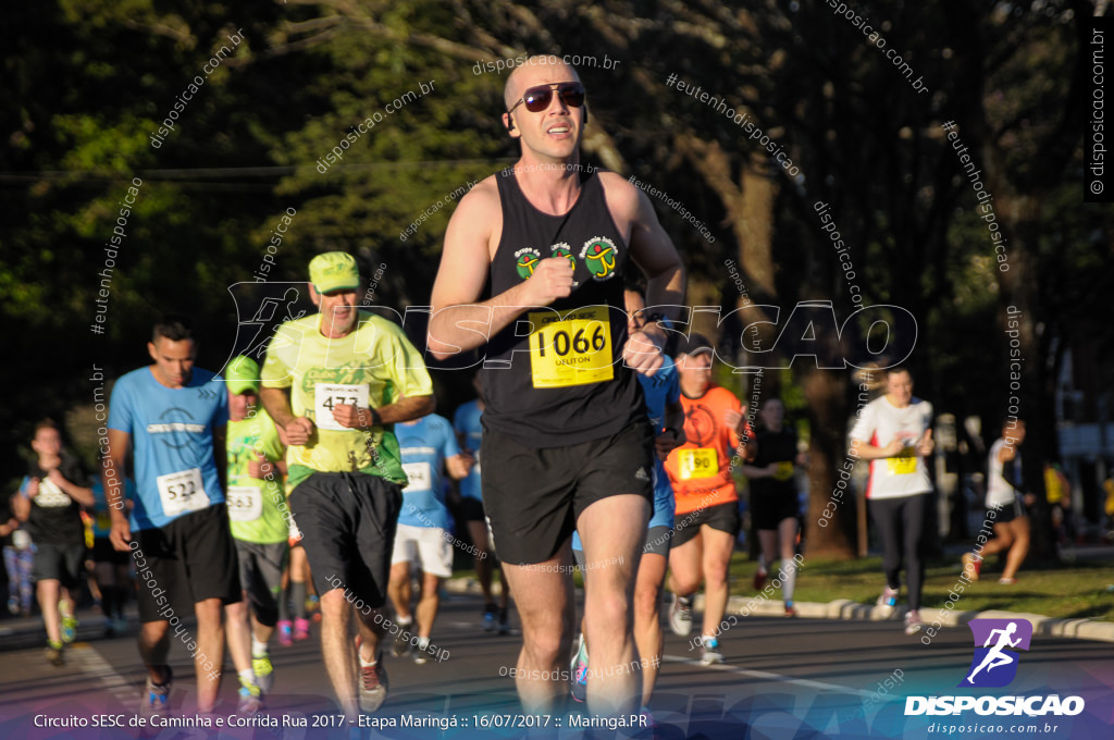
[(224, 503), (213, 457), (213, 431), (228, 422), (223, 378), (194, 368), (185, 388), (167, 388), (140, 368), (116, 381), (109, 403), (108, 428), (131, 435), (133, 529), (163, 527)]

